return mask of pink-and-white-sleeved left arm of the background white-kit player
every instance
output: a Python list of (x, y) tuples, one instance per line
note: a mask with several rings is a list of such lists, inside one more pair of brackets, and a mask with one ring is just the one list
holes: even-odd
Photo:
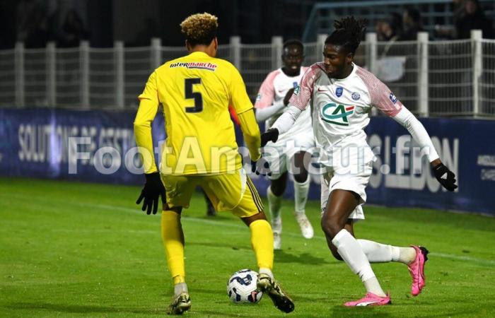
[(274, 101), (275, 90), (273, 82), (278, 72), (272, 71), (272, 73), (269, 73), (260, 86), (255, 102), (256, 120), (258, 122), (264, 122), (274, 114), (281, 112), (287, 105), (284, 100)]

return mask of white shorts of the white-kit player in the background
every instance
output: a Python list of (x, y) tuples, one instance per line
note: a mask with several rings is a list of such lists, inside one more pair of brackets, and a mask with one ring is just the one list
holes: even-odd
[[(284, 136), (285, 137), (285, 136)], [(299, 134), (297, 138), (287, 140), (282, 139), (276, 141), (276, 143), (269, 143), (263, 148), (263, 158), (266, 159), (270, 165), (270, 171), (272, 175), (268, 178), (276, 180), (281, 177), (285, 172), (289, 171), (292, 174), (296, 171), (292, 171), (291, 159), (294, 154), (299, 151), (308, 151), (315, 147), (315, 139), (313, 132)]]

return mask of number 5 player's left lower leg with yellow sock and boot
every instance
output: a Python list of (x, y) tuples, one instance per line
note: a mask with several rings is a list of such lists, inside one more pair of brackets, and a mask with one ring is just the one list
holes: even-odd
[(191, 308), (191, 300), (185, 283), (184, 232), (180, 223), (182, 207), (169, 208), (163, 204), (161, 233), (167, 264), (174, 283), (174, 298), (168, 305), (168, 314), (182, 314)]

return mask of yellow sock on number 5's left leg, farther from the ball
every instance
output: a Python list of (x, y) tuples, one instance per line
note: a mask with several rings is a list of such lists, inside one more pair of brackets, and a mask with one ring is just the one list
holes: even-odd
[(179, 213), (174, 211), (161, 213), (161, 237), (174, 284), (185, 283), (184, 233)]

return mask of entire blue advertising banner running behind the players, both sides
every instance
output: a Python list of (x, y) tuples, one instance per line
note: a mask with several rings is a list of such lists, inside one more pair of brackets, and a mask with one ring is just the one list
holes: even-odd
[[(0, 109), (0, 175), (142, 184), (132, 123), (135, 112)], [(495, 215), (495, 122), (421, 119), (438, 154), (457, 175), (459, 188), (446, 192), (409, 133), (387, 117), (366, 129), (375, 151), (368, 203), (421, 206)], [(236, 128), (239, 145), (242, 135)], [(163, 118), (153, 122), (153, 140), (165, 139)], [(311, 175), (310, 199), (320, 199), (319, 175)], [(269, 181), (253, 175), (260, 194)], [(286, 197), (293, 198), (292, 184)]]

